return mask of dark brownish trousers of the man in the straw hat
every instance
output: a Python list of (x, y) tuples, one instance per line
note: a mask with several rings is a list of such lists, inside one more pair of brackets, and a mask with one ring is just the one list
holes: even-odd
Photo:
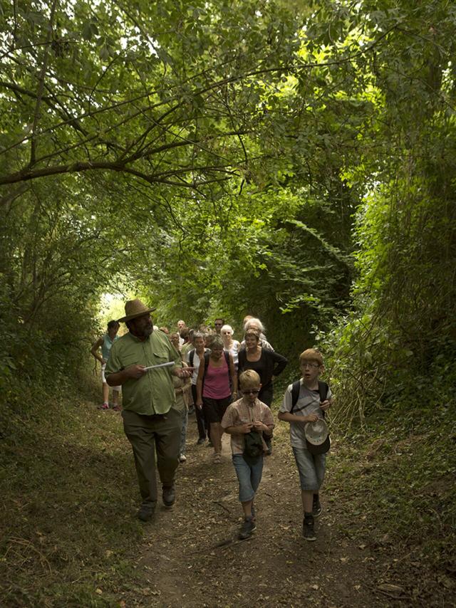
[(142, 416), (124, 409), (122, 416), (123, 430), (135, 456), (142, 504), (154, 508), (157, 503), (155, 451), (162, 486), (172, 486), (179, 463), (182, 412), (172, 407), (164, 415)]

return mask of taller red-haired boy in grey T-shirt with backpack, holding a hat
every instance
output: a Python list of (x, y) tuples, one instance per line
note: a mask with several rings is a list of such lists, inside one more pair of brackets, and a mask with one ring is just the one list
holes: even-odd
[[(331, 389), (326, 383), (318, 383), (324, 372), (323, 357), (318, 350), (308, 348), (299, 357), (302, 377), (299, 380), (299, 395), (293, 403), (293, 384), (284, 394), (284, 402), (279, 409), (279, 420), (290, 423), (290, 441), (301, 483), (301, 499), (304, 511), (303, 536), (306, 540), (316, 540), (314, 518), (321, 513), (318, 492), (323, 483), (326, 469), (326, 454), (311, 454), (307, 449), (304, 427), (308, 422), (323, 418), (332, 403)], [(320, 384), (324, 384), (326, 398), (321, 397)]]

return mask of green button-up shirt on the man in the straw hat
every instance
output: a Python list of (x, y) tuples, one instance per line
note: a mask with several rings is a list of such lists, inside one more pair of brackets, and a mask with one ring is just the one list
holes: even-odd
[[(181, 367), (180, 354), (165, 333), (153, 331), (144, 341), (128, 333), (116, 340), (111, 347), (105, 376), (121, 372), (130, 365), (158, 365), (174, 361)], [(173, 367), (149, 369), (139, 379), (130, 378), (122, 384), (123, 409), (137, 414), (152, 416), (166, 414), (175, 404), (172, 384)]]

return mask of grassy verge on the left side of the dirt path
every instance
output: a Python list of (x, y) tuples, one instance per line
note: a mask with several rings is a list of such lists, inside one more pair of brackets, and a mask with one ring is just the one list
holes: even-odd
[[(86, 384), (93, 400), (95, 387)], [(1, 426), (4, 606), (113, 606), (118, 586), (136, 582), (130, 555), (142, 530), (126, 515), (137, 488), (118, 415), (101, 421), (81, 387), (69, 388), (47, 394), (41, 411), (43, 396), (34, 392), (33, 416), (10, 412), (14, 433)]]

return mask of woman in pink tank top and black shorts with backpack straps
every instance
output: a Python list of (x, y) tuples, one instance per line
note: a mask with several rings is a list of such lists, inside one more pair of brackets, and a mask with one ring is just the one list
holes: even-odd
[(232, 400), (232, 393), (237, 394), (237, 374), (233, 357), (223, 350), (223, 341), (214, 337), (211, 352), (204, 355), (204, 365), (199, 365), (197, 377), (196, 406), (204, 408), (204, 414), (210, 424), (210, 437), (214, 446), (214, 461), (222, 461), (222, 418)]

